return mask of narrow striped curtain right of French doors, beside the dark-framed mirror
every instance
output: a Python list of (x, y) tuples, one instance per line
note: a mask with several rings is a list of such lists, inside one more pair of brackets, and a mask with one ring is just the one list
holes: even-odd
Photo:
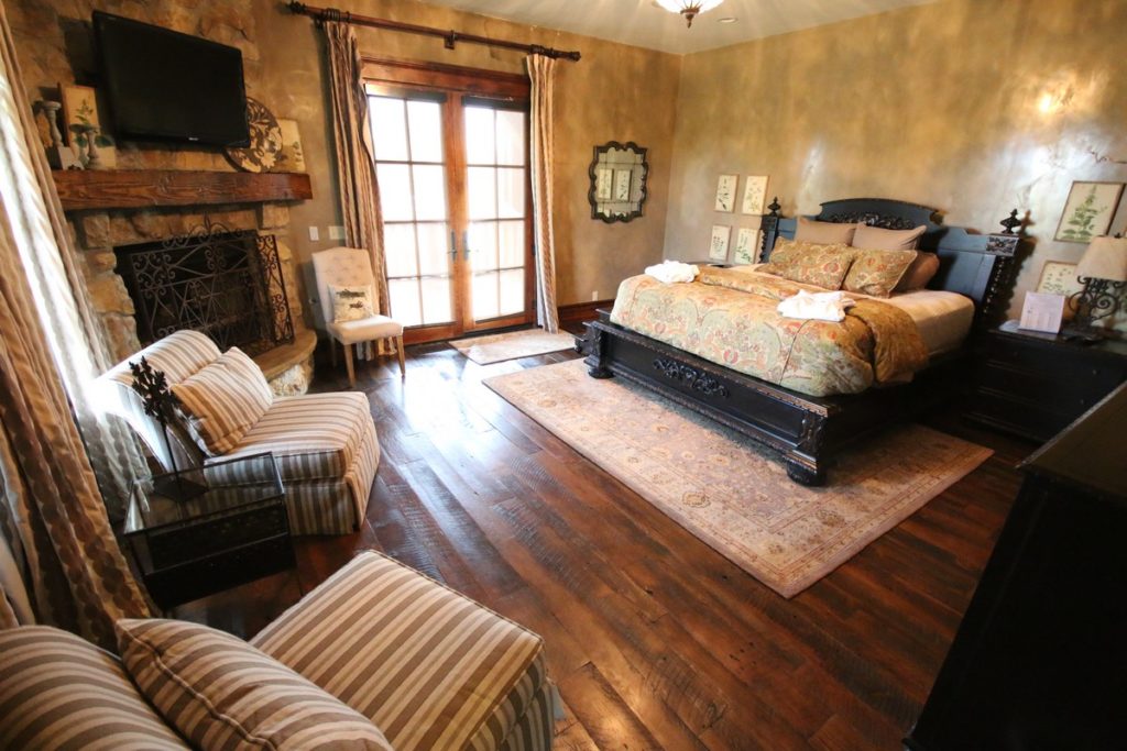
[(556, 158), (552, 97), (558, 61), (529, 55), (532, 80), (532, 216), (536, 239), (536, 323), (549, 333), (559, 331), (556, 307), (556, 232), (552, 227), (553, 169)]

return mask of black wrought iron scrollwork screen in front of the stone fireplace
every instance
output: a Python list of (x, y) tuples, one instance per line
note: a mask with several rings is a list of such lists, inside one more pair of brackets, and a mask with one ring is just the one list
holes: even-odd
[(277, 239), (205, 222), (190, 234), (117, 248), (117, 269), (149, 345), (181, 329), (258, 355), (293, 342)]

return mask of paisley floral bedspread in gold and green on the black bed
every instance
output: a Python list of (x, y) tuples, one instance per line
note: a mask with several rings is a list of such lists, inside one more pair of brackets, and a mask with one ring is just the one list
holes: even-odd
[(770, 274), (703, 269), (691, 284), (636, 276), (619, 286), (611, 321), (698, 357), (811, 396), (909, 381), (928, 363), (912, 318), (861, 297), (845, 320), (799, 321), (775, 311), (799, 289)]

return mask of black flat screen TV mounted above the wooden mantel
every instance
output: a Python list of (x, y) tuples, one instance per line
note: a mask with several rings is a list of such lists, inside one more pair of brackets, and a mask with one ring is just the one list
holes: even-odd
[(241, 51), (100, 11), (94, 33), (113, 135), (248, 144)]

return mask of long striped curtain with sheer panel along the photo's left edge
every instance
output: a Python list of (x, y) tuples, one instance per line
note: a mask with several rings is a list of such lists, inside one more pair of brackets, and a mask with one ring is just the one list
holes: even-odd
[(37, 618), (113, 647), (114, 620), (148, 606), (114, 538), (51, 345), (71, 363), (89, 350), (60, 341), (41, 318), (47, 307), (47, 324), (66, 315), (73, 323), (73, 290), (63, 269), (47, 286), (26, 260), (65, 262), (38, 179), (50, 172), (39, 149), (28, 147), (29, 119), (0, 6), (0, 534), (30, 573)]

